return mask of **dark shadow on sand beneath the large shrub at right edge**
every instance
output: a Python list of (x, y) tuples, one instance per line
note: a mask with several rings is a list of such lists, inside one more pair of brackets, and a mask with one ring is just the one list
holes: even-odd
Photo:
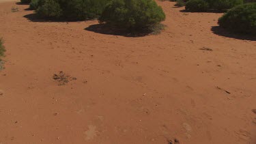
[(246, 35), (243, 33), (232, 33), (232, 32), (227, 31), (226, 29), (223, 29), (220, 26), (214, 26), (214, 27), (212, 27), (211, 30), (214, 34), (221, 35), (221, 36), (227, 37), (227, 38), (256, 41), (256, 35)]

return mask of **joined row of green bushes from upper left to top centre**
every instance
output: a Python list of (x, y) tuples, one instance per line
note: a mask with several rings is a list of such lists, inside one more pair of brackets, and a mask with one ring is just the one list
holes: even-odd
[[(23, 0), (25, 1), (25, 0)], [(165, 13), (154, 0), (26, 0), (42, 18), (87, 20), (123, 29), (147, 29), (165, 20)]]

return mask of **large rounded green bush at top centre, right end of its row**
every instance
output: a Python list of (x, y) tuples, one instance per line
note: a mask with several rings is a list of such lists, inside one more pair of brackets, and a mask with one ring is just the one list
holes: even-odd
[(154, 0), (113, 0), (99, 20), (124, 29), (147, 29), (165, 20), (165, 13)]

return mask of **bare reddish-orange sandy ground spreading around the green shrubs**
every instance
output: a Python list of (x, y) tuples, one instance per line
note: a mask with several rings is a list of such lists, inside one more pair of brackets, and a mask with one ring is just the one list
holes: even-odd
[[(1, 3), (0, 143), (255, 144), (255, 39), (221, 31), (222, 14), (158, 4), (165, 31), (128, 38)], [(76, 80), (58, 85), (59, 71)]]

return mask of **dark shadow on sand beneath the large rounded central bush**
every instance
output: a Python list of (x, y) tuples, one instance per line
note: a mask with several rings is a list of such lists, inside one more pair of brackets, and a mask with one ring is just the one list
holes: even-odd
[(106, 24), (90, 25), (89, 27), (86, 27), (85, 30), (93, 31), (94, 33), (101, 33), (105, 35), (120, 35), (125, 37), (143, 37), (145, 35), (150, 35), (150, 33), (152, 33), (152, 31), (130, 32), (124, 29), (113, 28)]

